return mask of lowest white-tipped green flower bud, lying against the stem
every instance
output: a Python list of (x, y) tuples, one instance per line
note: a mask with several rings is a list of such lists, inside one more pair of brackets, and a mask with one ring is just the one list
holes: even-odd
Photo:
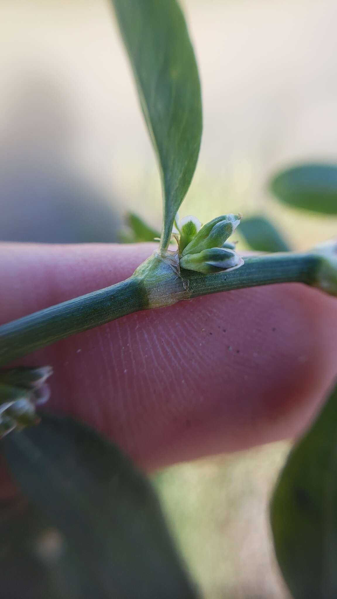
[(242, 266), (243, 260), (234, 250), (212, 247), (197, 254), (187, 254), (180, 258), (180, 267), (198, 273), (219, 273)]

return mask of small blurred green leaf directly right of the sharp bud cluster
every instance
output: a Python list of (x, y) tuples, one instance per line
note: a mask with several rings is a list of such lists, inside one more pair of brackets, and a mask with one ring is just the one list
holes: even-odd
[(251, 216), (247, 219), (242, 219), (240, 233), (251, 249), (257, 250), (257, 252), (290, 251), (290, 247), (281, 233), (264, 216)]

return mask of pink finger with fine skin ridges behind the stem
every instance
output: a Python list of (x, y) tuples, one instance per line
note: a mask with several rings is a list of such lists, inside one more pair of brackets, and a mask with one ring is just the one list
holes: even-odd
[[(117, 283), (154, 244), (0, 244), (0, 322)], [(300, 284), (130, 314), (21, 363), (51, 364), (47, 409), (148, 470), (299, 434), (337, 374), (337, 301)]]

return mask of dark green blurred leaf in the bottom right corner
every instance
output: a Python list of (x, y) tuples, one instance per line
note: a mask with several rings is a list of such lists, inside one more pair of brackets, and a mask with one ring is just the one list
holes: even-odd
[(276, 556), (294, 599), (337, 597), (337, 387), (300, 439), (271, 502)]

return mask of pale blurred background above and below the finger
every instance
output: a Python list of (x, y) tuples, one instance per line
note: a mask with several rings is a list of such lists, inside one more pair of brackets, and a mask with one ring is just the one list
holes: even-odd
[[(336, 1), (183, 5), (204, 134), (180, 216), (263, 213), (297, 249), (331, 237), (336, 217), (285, 208), (267, 181), (288, 165), (337, 161)], [(1, 0), (0, 46), (0, 240), (118, 241), (128, 211), (160, 227), (157, 165), (109, 2)], [(287, 597), (267, 524), (287, 451), (278, 443), (155, 476), (207, 599)]]

